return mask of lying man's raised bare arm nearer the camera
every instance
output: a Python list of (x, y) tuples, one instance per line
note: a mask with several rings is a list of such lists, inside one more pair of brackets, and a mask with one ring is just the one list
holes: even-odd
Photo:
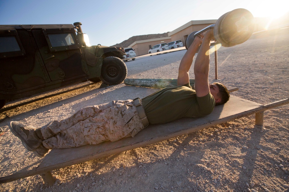
[(214, 39), (213, 30), (205, 33), (203, 43), (194, 64), (195, 90), (198, 97), (206, 96), (209, 88), (210, 42)]

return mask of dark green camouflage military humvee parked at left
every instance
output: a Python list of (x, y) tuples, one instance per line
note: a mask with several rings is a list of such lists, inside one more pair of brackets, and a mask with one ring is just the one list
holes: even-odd
[(71, 83), (125, 79), (124, 48), (90, 46), (80, 25), (0, 25), (0, 108)]

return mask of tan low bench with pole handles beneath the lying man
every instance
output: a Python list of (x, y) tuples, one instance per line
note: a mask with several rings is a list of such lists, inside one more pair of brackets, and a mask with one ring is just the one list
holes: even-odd
[(103, 142), (99, 145), (85, 145), (69, 149), (53, 149), (43, 158), (38, 167), (3, 176), (0, 178), (0, 183), (7, 183), (39, 174), (46, 184), (53, 185), (55, 182), (51, 174), (53, 170), (144, 147), (254, 113), (255, 124), (262, 126), (265, 110), (288, 103), (289, 99), (284, 99), (262, 105), (231, 95), (230, 100), (226, 104), (216, 106), (213, 113), (202, 118), (181, 118), (169, 123), (151, 124), (134, 138), (123, 138), (116, 142)]

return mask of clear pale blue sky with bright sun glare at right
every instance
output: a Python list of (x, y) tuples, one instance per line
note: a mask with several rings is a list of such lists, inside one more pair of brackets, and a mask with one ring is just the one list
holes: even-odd
[(279, 17), (288, 0), (0, 0), (0, 25), (82, 23), (91, 45), (111, 46), (135, 35), (166, 33), (191, 20), (218, 19), (236, 8)]

